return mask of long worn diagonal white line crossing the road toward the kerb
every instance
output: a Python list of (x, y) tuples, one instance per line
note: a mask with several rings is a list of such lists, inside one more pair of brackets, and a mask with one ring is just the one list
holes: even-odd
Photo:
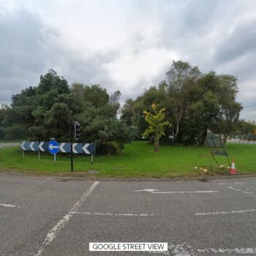
[(99, 184), (99, 181), (94, 181), (94, 183), (89, 187), (89, 189), (83, 193), (82, 197), (70, 208), (69, 212), (50, 230), (50, 232), (45, 237), (45, 240), (42, 242), (42, 245), (39, 247), (37, 252), (34, 253), (34, 256), (42, 255), (45, 247), (48, 246), (54, 238), (58, 235), (59, 231), (62, 227), (69, 221), (69, 219), (78, 211), (80, 206), (82, 206), (83, 202), (87, 197), (94, 191), (95, 187)]

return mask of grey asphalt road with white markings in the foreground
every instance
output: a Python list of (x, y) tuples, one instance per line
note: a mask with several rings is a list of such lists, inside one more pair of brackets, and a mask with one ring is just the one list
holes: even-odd
[[(90, 252), (161, 242), (167, 252)], [(256, 255), (256, 178), (82, 181), (0, 173), (0, 255)]]

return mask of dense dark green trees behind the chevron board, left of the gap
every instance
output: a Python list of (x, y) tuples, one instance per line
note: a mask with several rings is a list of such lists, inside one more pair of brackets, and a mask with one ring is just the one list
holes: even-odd
[(132, 127), (117, 118), (120, 95), (108, 95), (99, 85), (74, 83), (69, 88), (67, 80), (50, 69), (38, 86), (13, 95), (10, 108), (1, 106), (0, 126), (7, 127), (2, 128), (5, 139), (18, 138), (16, 126), (21, 126), (22, 138), (28, 140), (69, 141), (70, 122), (79, 121), (80, 142), (94, 142), (99, 153), (116, 154), (134, 137)]

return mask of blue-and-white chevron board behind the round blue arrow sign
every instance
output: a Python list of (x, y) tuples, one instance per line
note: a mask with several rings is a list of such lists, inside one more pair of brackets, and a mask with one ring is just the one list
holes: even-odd
[[(28, 142), (20, 143), (20, 148), (23, 151), (48, 151), (48, 142)], [(59, 143), (59, 152), (70, 153), (70, 143)], [(96, 154), (95, 143), (73, 143), (74, 154)]]

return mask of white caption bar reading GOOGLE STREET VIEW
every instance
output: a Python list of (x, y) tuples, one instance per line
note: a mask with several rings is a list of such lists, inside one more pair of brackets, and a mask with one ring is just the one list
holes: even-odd
[(167, 252), (167, 243), (89, 243), (91, 252)]

